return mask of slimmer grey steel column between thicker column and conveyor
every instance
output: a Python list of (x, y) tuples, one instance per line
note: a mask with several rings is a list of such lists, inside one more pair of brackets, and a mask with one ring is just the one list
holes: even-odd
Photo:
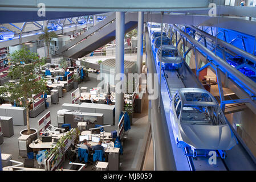
[(137, 73), (140, 75), (142, 71), (143, 60), (143, 25), (144, 25), (144, 12), (138, 13), (138, 35), (137, 35)]

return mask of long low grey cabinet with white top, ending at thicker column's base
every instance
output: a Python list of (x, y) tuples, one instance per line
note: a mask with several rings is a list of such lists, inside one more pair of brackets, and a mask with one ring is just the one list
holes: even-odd
[(115, 124), (115, 105), (94, 104), (86, 102), (83, 102), (82, 104), (64, 103), (62, 108), (68, 110), (79, 110), (84, 113), (102, 113), (104, 125)]

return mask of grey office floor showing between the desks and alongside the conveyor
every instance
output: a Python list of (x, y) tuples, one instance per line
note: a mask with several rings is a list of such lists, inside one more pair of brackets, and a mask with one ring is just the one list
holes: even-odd
[[(79, 84), (79, 87), (87, 86), (88, 88), (95, 87), (97, 84), (99, 84), (100, 81), (96, 80), (97, 74), (95, 73), (89, 73), (90, 81), (82, 82)], [(51, 111), (51, 123), (54, 126), (58, 126), (58, 120), (57, 120), (57, 111), (62, 109), (63, 103), (71, 103), (71, 92), (74, 91), (71, 90), (70, 92), (64, 93), (64, 96), (62, 98), (59, 98), (59, 104), (58, 105), (51, 105), (48, 107), (48, 109), (44, 110), (42, 113), (40, 113), (36, 118), (29, 118), (30, 120), (30, 127), (38, 129), (38, 120), (43, 117), (44, 114), (46, 114), (48, 111)], [(141, 144), (143, 142), (143, 137), (145, 134), (145, 129), (148, 122), (148, 100), (145, 100), (143, 112), (142, 113), (134, 113), (133, 115), (133, 125), (131, 126), (131, 130), (128, 132), (128, 137), (125, 139), (123, 144), (123, 155), (120, 155), (120, 163), (121, 167), (120, 170), (135, 170), (138, 157), (139, 157), (139, 151)], [(13, 160), (17, 160), (19, 162), (24, 162), (24, 158), (19, 159), (19, 152), (18, 152), (18, 138), (19, 138), (19, 132), (23, 129), (26, 129), (27, 126), (14, 126), (14, 135), (10, 138), (4, 138), (3, 143), (0, 146), (1, 152), (4, 154), (11, 154)], [(107, 127), (106, 131), (112, 131), (115, 130), (115, 126)], [(35, 162), (35, 164), (37, 164)], [(68, 164), (68, 161), (65, 161), (63, 163), (63, 168), (70, 169), (70, 164)], [(92, 166), (88, 166), (85, 168), (85, 170), (91, 170)]]

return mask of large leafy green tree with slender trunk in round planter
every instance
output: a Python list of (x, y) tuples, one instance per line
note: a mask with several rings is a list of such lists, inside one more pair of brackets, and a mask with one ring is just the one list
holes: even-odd
[(27, 134), (31, 134), (29, 123), (29, 102), (32, 94), (46, 91), (43, 80), (35, 81), (40, 71), (40, 61), (38, 55), (23, 47), (19, 51), (11, 54), (11, 68), (9, 76), (18, 82), (6, 82), (0, 88), (2, 96), (9, 97), (11, 102), (19, 103), (27, 108)]

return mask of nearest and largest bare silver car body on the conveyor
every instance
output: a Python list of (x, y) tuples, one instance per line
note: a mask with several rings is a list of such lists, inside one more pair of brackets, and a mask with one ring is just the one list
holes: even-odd
[(237, 144), (220, 106), (204, 89), (177, 90), (170, 101), (170, 121), (178, 147), (226, 151)]

